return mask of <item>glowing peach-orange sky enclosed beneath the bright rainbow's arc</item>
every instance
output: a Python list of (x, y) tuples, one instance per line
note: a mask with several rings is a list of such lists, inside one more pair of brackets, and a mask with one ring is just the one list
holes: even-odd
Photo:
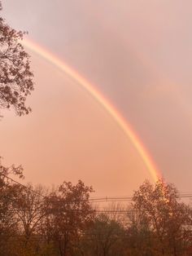
[(33, 113), (6, 113), (1, 123), (2, 134), (10, 135), (2, 139), (5, 163), (22, 163), (26, 181), (82, 179), (101, 196), (129, 195), (151, 179), (133, 144), (95, 99), (37, 56), (33, 70)]

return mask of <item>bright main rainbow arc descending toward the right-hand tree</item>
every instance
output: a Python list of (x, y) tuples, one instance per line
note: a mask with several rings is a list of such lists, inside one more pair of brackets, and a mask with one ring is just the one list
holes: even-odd
[(137, 152), (142, 157), (142, 161), (145, 163), (147, 170), (149, 170), (152, 179), (156, 181), (158, 179), (159, 172), (155, 167), (155, 164), (151, 160), (151, 157), (146, 151), (146, 148), (142, 145), (140, 139), (133, 132), (131, 126), (127, 121), (124, 120), (124, 117), (112, 106), (112, 104), (96, 89), (96, 86), (89, 83), (84, 77), (81, 77), (73, 68), (69, 67), (68, 64), (64, 63), (62, 60), (59, 60), (55, 55), (46, 51), (44, 47), (37, 45), (37, 43), (32, 42), (31, 40), (24, 39), (22, 42), (29, 50), (35, 52), (37, 55), (40, 55), (45, 60), (49, 61), (55, 67), (62, 70), (68, 77), (71, 77), (73, 81), (82, 86), (90, 95), (98, 101), (99, 104), (106, 109), (107, 113), (116, 121), (120, 128), (124, 131), (124, 134), (131, 140), (134, 147), (137, 149)]

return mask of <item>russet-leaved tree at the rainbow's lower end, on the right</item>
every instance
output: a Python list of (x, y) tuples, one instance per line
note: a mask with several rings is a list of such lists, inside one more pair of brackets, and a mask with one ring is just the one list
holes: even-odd
[(148, 235), (142, 236), (142, 248), (150, 241), (151, 255), (185, 255), (191, 244), (192, 215), (175, 186), (162, 179), (155, 185), (146, 181), (134, 192), (132, 206), (132, 227), (137, 234), (140, 228)]

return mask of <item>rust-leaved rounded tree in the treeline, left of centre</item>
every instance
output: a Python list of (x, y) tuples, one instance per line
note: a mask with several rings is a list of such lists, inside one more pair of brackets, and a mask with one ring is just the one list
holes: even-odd
[(54, 242), (60, 256), (71, 255), (85, 226), (94, 216), (89, 202), (93, 188), (79, 180), (76, 185), (63, 182), (46, 198), (46, 218), (42, 232), (47, 242)]

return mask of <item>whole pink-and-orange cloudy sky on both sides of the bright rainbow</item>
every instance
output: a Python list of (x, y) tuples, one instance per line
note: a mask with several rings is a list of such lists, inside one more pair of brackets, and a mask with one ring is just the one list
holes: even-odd
[[(164, 178), (190, 191), (192, 3), (189, 0), (6, 0), (15, 29), (97, 86), (142, 139)], [(151, 179), (133, 145), (90, 95), (32, 55), (33, 113), (3, 113), (1, 155), (27, 181), (92, 184), (128, 195)]]

